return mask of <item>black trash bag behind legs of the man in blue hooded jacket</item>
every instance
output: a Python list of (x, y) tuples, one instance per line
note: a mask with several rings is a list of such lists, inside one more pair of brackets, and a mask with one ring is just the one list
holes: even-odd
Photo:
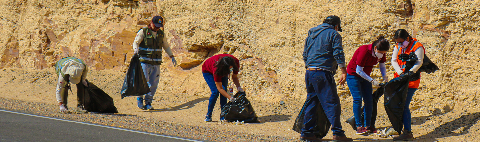
[[(306, 108), (307, 102), (303, 103), (303, 107), (300, 110), (299, 115), (297, 116), (297, 119), (295, 119), (295, 123), (293, 124), (292, 130), (301, 133), (301, 129), (305, 127), (304, 124), (304, 118), (305, 118), (305, 108)], [(315, 137), (322, 139), (324, 138), (328, 131), (330, 130), (330, 126), (332, 125), (330, 123), (330, 120), (328, 120), (327, 116), (325, 115), (324, 108), (320, 103), (317, 104), (318, 109), (316, 115), (313, 115), (313, 118), (317, 118), (317, 125), (313, 127), (313, 134)], [(325, 123), (326, 122), (326, 123)]]

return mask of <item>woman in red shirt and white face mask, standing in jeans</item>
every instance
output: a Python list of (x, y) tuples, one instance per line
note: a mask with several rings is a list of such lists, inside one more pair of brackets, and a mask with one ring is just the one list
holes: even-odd
[[(380, 72), (384, 81), (388, 81), (385, 68), (385, 53), (390, 48), (390, 42), (380, 36), (375, 42), (360, 46), (353, 54), (352, 59), (347, 66), (347, 85), (353, 97), (353, 116), (357, 125), (357, 135), (365, 135), (369, 132), (375, 132), (375, 128), (370, 127), (372, 118), (372, 85), (380, 87), (378, 81), (370, 77), (373, 66), (380, 62)], [(361, 122), (361, 102), (364, 102), (365, 122)]]

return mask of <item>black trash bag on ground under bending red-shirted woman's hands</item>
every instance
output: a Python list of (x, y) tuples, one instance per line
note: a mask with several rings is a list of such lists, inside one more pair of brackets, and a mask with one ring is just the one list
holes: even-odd
[(245, 121), (246, 123), (259, 123), (258, 117), (253, 110), (252, 103), (247, 99), (245, 92), (237, 92), (234, 98), (237, 100), (228, 102), (222, 109), (220, 117), (227, 121)]

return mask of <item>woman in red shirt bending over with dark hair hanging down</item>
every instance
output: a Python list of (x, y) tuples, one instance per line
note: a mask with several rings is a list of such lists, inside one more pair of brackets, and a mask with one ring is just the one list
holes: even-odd
[[(208, 100), (208, 110), (205, 115), (205, 122), (212, 121), (213, 108), (215, 107), (218, 94), (222, 94), (222, 96), (220, 96), (220, 110), (223, 109), (223, 106), (227, 103), (227, 98), (230, 99), (230, 101), (235, 101), (237, 99), (228, 95), (227, 91), (225, 91), (228, 86), (228, 75), (230, 75), (231, 72), (233, 72), (232, 80), (237, 87), (237, 90), (243, 92), (238, 78), (239, 71), (240, 61), (233, 55), (214, 55), (205, 60), (205, 63), (202, 66), (202, 72), (208, 87), (210, 87), (210, 90), (212, 91), (212, 95), (210, 95), (210, 99)], [(220, 120), (224, 119), (220, 118)]]

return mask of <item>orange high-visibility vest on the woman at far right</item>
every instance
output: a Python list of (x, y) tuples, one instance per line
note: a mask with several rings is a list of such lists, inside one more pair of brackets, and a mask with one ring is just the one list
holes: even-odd
[[(417, 51), (417, 49), (419, 49), (420, 47), (423, 47), (423, 45), (420, 44), (420, 42), (416, 38), (412, 38), (410, 46), (407, 46), (407, 49), (405, 50), (405, 52), (403, 52), (402, 47), (398, 47), (398, 44), (396, 44), (395, 47), (398, 48), (398, 54), (396, 56), (396, 61), (398, 62), (398, 65), (400, 66), (400, 68), (402, 68), (402, 71), (405, 73), (405, 64), (407, 62), (403, 62), (402, 60), (398, 59), (398, 55), (403, 54), (403, 53), (406, 53), (406, 54), (413, 53), (413, 54), (415, 54), (414, 52)], [(423, 53), (425, 53), (425, 47), (423, 47)], [(395, 72), (394, 77), (398, 77), (398, 76), (400, 76), (400, 75), (398, 75)], [(419, 86), (420, 86), (420, 79), (415, 80), (415, 81), (410, 81), (408, 83), (409, 88), (419, 88)]]

